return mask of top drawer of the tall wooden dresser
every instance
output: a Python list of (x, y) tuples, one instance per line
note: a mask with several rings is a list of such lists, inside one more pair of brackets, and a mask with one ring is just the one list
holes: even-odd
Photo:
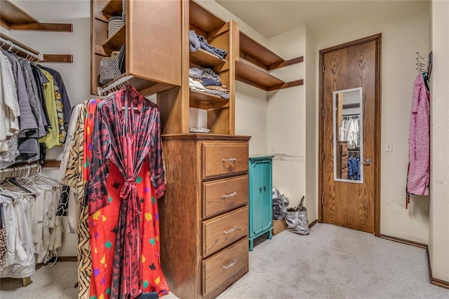
[(247, 142), (204, 142), (203, 179), (248, 171)]

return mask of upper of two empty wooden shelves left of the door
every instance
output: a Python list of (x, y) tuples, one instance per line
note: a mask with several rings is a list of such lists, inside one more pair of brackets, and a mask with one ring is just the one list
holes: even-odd
[(273, 64), (281, 64), (285, 61), (282, 57), (257, 43), (257, 41), (251, 39), (243, 32), (240, 32), (240, 51), (260, 61), (267, 69)]

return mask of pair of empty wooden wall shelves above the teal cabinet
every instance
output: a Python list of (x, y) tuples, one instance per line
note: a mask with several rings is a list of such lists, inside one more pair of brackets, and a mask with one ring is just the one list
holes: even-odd
[(241, 60), (236, 63), (236, 80), (267, 91), (303, 84), (302, 79), (291, 82), (282, 81), (269, 74), (268, 71), (300, 63), (304, 57), (284, 60), (242, 32), (239, 34), (239, 40)]

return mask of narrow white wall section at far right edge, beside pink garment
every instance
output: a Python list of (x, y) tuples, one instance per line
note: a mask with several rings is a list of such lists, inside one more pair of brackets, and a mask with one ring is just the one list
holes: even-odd
[(432, 1), (431, 188), (432, 276), (449, 281), (449, 2)]

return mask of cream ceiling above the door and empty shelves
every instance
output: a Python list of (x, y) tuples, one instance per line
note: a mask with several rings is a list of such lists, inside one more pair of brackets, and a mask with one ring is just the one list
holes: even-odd
[(307, 24), (326, 29), (345, 22), (375, 18), (417, 1), (409, 0), (215, 0), (257, 32), (269, 38)]

